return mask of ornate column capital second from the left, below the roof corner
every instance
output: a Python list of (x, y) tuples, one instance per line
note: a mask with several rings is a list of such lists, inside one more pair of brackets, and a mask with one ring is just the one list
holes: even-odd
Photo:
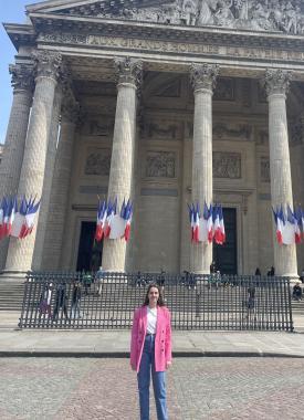
[(34, 51), (32, 53), (36, 77), (50, 77), (57, 81), (61, 75), (62, 55), (52, 51)]

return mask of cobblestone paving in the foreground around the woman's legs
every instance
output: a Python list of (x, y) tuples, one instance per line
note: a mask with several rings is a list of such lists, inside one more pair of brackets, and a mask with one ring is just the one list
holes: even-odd
[[(168, 371), (170, 420), (304, 419), (304, 360), (178, 358)], [(1, 358), (1, 420), (136, 420), (127, 359)], [(153, 395), (151, 420), (156, 420)]]

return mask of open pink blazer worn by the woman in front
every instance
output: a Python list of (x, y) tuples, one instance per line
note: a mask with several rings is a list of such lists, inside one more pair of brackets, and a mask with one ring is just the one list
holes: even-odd
[[(139, 371), (145, 336), (147, 332), (147, 306), (138, 307), (134, 313), (130, 365)], [(167, 307), (157, 306), (157, 324), (155, 336), (155, 370), (165, 371), (166, 363), (171, 361), (171, 323), (170, 312)]]

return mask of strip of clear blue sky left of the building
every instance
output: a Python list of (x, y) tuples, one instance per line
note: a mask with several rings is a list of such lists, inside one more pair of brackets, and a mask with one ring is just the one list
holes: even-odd
[[(23, 23), (25, 21), (25, 4), (39, 3), (41, 0), (0, 0), (0, 22)], [(4, 6), (6, 3), (6, 6)], [(0, 28), (0, 143), (4, 143), (12, 103), (11, 76), (9, 64), (14, 62), (17, 51), (7, 32)]]

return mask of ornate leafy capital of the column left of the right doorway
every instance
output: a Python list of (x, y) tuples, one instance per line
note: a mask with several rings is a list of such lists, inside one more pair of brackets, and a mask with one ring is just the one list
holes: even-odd
[(197, 64), (190, 65), (190, 83), (193, 91), (208, 90), (213, 91), (216, 87), (217, 76), (219, 74), (218, 64)]

